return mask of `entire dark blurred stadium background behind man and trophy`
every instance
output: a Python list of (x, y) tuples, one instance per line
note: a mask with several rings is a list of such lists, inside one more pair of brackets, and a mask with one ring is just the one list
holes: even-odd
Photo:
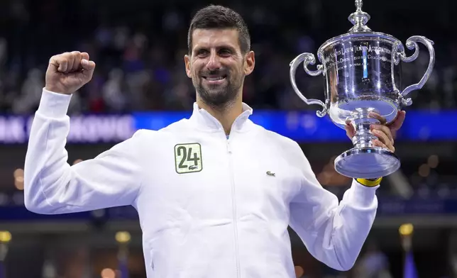
[[(288, 65), (299, 53), (316, 54), (325, 40), (345, 33), (353, 1), (212, 3), (236, 9), (250, 28), (256, 67), (243, 97), (254, 109), (253, 121), (297, 140), (319, 181), (341, 196), (350, 180), (336, 174), (331, 163), (351, 143), (328, 118), (315, 116), (316, 106), (299, 101)], [(157, 129), (189, 116), (194, 90), (182, 57), (189, 20), (206, 4), (210, 2), (0, 1), (0, 230), (8, 231), (0, 233), (0, 266), (6, 277), (109, 278), (114, 277), (109, 269), (121, 277), (125, 268), (131, 278), (145, 277), (133, 209), (61, 216), (26, 211), (22, 169), (28, 127), (50, 56), (72, 50), (89, 52), (97, 70), (72, 98), (70, 164), (98, 155), (138, 128)], [(398, 230), (402, 223), (412, 223), (418, 277), (457, 277), (457, 2), (364, 1), (363, 10), (372, 17), (368, 26), (374, 31), (403, 43), (411, 35), (434, 40), (436, 66), (406, 108), (395, 140), (402, 168), (378, 191), (378, 217), (356, 267), (344, 273), (325, 267), (291, 230), (295, 265), (304, 269), (303, 277), (404, 277), (406, 256)], [(403, 87), (422, 77), (428, 60), (421, 45), (419, 58), (403, 64)], [(297, 81), (307, 96), (323, 99), (322, 77), (299, 70)], [(119, 231), (131, 235), (126, 260), (119, 251), (125, 245), (115, 237)], [(378, 274), (370, 276), (375, 269)]]

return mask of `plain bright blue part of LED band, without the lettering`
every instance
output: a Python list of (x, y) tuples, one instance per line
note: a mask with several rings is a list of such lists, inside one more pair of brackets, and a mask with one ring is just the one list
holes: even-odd
[[(136, 129), (159, 130), (191, 112), (133, 113)], [(347, 141), (345, 130), (338, 128), (328, 116), (319, 118), (314, 112), (254, 111), (250, 119), (260, 126), (300, 142)], [(457, 140), (457, 111), (408, 111), (397, 134), (397, 140)]]

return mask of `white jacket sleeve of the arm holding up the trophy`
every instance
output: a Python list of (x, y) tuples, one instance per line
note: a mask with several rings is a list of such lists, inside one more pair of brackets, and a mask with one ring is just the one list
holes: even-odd
[(379, 185), (365, 187), (354, 180), (338, 204), (338, 198), (321, 187), (302, 150), (296, 153), (302, 189), (290, 203), (290, 227), (317, 260), (340, 271), (351, 269), (373, 226)]

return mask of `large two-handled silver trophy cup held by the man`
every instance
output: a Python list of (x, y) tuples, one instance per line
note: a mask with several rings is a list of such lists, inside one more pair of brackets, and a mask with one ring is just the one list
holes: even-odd
[[(370, 133), (370, 124), (379, 123), (371, 116), (375, 112), (392, 123), (401, 106), (412, 104), (407, 95), (421, 89), (435, 63), (433, 42), (419, 35), (408, 38), (406, 46), (414, 53), (407, 57), (401, 41), (392, 35), (373, 32), (365, 24), (370, 15), (362, 11), (362, 1), (356, 0), (356, 12), (349, 21), (353, 27), (348, 33), (327, 40), (317, 51), (321, 65), (309, 70), (316, 59), (312, 53), (302, 53), (290, 63), (290, 82), (294, 91), (306, 104), (318, 104), (323, 117), (329, 113), (336, 126), (344, 128), (350, 121), (356, 130), (353, 137), (354, 148), (346, 150), (335, 160), (336, 172), (346, 177), (374, 179), (385, 177), (400, 167), (400, 160), (393, 152), (373, 146), (375, 135)], [(401, 64), (412, 62), (419, 55), (423, 43), (429, 50), (429, 67), (424, 77), (417, 83), (400, 91)], [(300, 63), (304, 71), (312, 76), (323, 74), (325, 78), (325, 103), (319, 99), (307, 99), (297, 88), (295, 72)]]

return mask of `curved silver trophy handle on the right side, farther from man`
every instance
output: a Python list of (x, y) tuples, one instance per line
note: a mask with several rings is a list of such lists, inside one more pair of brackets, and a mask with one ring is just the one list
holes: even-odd
[[(429, 55), (430, 55), (429, 67), (427, 67), (427, 70), (426, 70), (424, 76), (422, 77), (422, 79), (420, 79), (420, 81), (418, 83), (409, 85), (408, 87), (404, 88), (404, 90), (402, 91), (402, 97), (403, 97), (402, 103), (406, 106), (411, 105), (412, 100), (410, 98), (404, 99), (404, 97), (407, 96), (411, 91), (421, 89), (424, 86), (425, 82), (429, 79), (431, 71), (433, 70), (433, 67), (435, 65), (435, 50), (433, 48), (434, 42), (432, 40), (429, 40), (428, 38), (425, 38), (420, 35), (413, 35), (411, 38), (408, 38), (406, 41), (407, 48), (409, 50), (414, 49), (414, 53), (411, 56), (409, 56), (409, 57), (406, 56), (406, 54), (404, 53), (404, 47), (401, 44), (398, 46), (399, 52), (397, 52), (397, 55), (400, 56), (400, 59), (403, 62), (412, 62), (412, 61), (416, 60), (417, 56), (419, 56), (419, 46), (417, 45), (417, 43), (422, 43), (429, 50)], [(397, 58), (397, 57), (395, 57), (395, 58)], [(395, 64), (397, 64), (399, 62), (397, 59), (394, 59), (394, 60), (395, 60)]]

